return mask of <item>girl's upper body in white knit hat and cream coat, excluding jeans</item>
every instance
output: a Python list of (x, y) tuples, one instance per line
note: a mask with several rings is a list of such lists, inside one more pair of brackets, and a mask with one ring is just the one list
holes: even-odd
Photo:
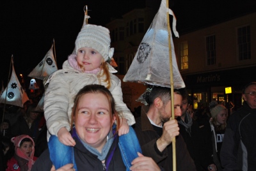
[[(68, 56), (63, 69), (54, 72), (45, 83), (44, 114), (48, 131), (58, 136), (61, 143), (74, 146), (70, 120), (74, 96), (88, 84), (100, 84), (109, 89), (116, 102), (121, 119), (119, 135), (128, 133), (129, 125), (135, 123), (134, 116), (122, 98), (121, 81), (109, 72), (107, 61), (113, 56), (110, 48), (109, 30), (92, 24), (85, 25), (76, 39), (76, 54)], [(48, 140), (49, 135), (48, 133)]]

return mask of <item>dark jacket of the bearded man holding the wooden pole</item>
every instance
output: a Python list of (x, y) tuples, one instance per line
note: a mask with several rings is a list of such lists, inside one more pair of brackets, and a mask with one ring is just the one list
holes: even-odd
[[(168, 145), (163, 152), (157, 149), (156, 140), (159, 138), (159, 135), (154, 130), (145, 112), (147, 111), (144, 111), (142, 108), (141, 117), (136, 118), (136, 124), (134, 126), (134, 131), (140, 142), (143, 155), (151, 157), (164, 170), (172, 170), (172, 144)], [(182, 137), (176, 138), (176, 159), (178, 171), (196, 170), (194, 161), (190, 157)]]

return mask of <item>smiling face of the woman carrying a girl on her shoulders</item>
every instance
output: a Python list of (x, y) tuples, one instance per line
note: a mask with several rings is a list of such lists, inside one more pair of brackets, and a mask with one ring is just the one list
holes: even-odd
[(84, 94), (77, 103), (74, 118), (77, 135), (101, 152), (115, 121), (115, 116), (111, 115), (108, 98), (104, 94)]

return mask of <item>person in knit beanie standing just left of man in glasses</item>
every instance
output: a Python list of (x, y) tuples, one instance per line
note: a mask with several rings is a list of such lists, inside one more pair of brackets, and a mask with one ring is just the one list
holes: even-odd
[(212, 152), (213, 160), (218, 170), (222, 170), (220, 161), (220, 150), (226, 129), (227, 108), (219, 105), (217, 101), (211, 101), (209, 104), (211, 112), (211, 131), (212, 131)]

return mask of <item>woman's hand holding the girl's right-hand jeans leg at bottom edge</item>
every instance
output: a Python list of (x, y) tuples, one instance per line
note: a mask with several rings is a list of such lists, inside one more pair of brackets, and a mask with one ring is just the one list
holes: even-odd
[(138, 152), (138, 158), (134, 159), (132, 161), (132, 167), (130, 167), (130, 170), (132, 171), (138, 171), (138, 170), (161, 170), (156, 162), (152, 160), (152, 158), (148, 158), (143, 156), (140, 152)]

